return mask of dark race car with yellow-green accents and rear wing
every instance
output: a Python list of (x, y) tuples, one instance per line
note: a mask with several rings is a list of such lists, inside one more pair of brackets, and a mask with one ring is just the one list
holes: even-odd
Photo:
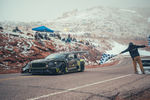
[(21, 69), (21, 73), (31, 74), (64, 74), (68, 72), (83, 72), (85, 69), (84, 59), (78, 58), (78, 54), (84, 51), (54, 53), (45, 59), (33, 60)]

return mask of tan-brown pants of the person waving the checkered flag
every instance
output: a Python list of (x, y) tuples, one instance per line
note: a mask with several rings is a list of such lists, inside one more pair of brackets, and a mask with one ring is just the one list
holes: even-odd
[(134, 66), (134, 70), (135, 70), (135, 72), (137, 72), (137, 63), (139, 64), (139, 66), (140, 66), (140, 69), (141, 69), (141, 71), (143, 72), (143, 74), (144, 74), (144, 69), (143, 69), (143, 64), (142, 64), (142, 61), (141, 61), (141, 58), (140, 58), (140, 56), (137, 56), (137, 57), (134, 57), (133, 58), (133, 66)]

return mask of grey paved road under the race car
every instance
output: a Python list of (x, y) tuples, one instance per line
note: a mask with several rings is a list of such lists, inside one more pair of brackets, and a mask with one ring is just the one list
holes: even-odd
[(65, 75), (0, 75), (0, 100), (115, 100), (150, 88), (150, 75), (133, 72), (130, 58), (118, 65)]

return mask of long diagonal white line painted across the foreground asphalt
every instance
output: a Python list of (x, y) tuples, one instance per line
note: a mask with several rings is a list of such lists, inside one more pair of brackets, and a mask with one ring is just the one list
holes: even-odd
[(89, 87), (89, 86), (92, 86), (92, 85), (102, 84), (102, 83), (105, 83), (105, 82), (109, 82), (109, 81), (113, 81), (113, 80), (125, 78), (125, 77), (131, 76), (131, 75), (133, 75), (133, 74), (127, 74), (127, 75), (123, 75), (123, 76), (111, 78), (111, 79), (104, 80), (104, 81), (98, 81), (98, 82), (91, 83), (91, 84), (85, 84), (85, 85), (82, 85), (82, 86), (79, 86), (79, 87), (70, 88), (70, 89), (67, 89), (67, 90), (64, 90), (64, 91), (54, 92), (54, 93), (50, 93), (50, 94), (47, 94), (47, 95), (42, 95), (42, 96), (39, 96), (39, 97), (30, 98), (30, 99), (27, 99), (27, 100), (37, 100), (37, 99), (42, 99), (42, 98), (46, 98), (46, 97), (49, 97), (49, 96), (53, 96), (53, 95), (57, 95), (57, 94), (62, 94), (62, 93), (66, 93), (66, 92), (69, 92), (69, 91), (73, 91), (73, 90), (77, 90), (77, 89)]

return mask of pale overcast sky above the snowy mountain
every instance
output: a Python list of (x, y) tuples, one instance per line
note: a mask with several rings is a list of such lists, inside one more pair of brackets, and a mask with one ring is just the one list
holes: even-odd
[(150, 7), (150, 0), (0, 0), (0, 21), (41, 21), (94, 6)]

